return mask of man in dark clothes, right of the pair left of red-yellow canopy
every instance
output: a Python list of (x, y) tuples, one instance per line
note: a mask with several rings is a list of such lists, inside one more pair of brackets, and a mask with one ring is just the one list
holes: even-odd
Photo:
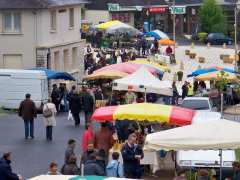
[(94, 100), (86, 87), (83, 87), (82, 90), (82, 106), (85, 113), (85, 123), (87, 124), (93, 113)]

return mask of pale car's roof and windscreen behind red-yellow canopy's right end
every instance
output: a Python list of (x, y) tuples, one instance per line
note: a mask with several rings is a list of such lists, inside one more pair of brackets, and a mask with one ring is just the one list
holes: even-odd
[(181, 107), (208, 112), (217, 110), (208, 97), (186, 97), (182, 101)]

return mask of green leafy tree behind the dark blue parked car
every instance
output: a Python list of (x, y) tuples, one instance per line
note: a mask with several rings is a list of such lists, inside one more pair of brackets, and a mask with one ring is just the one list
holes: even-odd
[(199, 11), (202, 31), (226, 32), (226, 17), (222, 7), (217, 5), (216, 0), (204, 0)]

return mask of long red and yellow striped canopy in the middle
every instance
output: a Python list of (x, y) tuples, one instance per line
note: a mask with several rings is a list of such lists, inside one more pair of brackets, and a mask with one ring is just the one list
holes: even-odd
[(192, 123), (195, 111), (177, 106), (152, 103), (106, 106), (95, 110), (92, 120), (105, 122), (113, 120), (134, 120), (162, 122), (173, 125)]

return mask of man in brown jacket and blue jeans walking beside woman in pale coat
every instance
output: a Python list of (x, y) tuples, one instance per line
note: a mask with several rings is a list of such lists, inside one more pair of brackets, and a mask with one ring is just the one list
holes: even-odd
[(35, 103), (31, 100), (31, 95), (26, 94), (26, 99), (19, 106), (18, 114), (24, 120), (25, 139), (34, 138), (34, 118), (37, 117), (37, 109)]

